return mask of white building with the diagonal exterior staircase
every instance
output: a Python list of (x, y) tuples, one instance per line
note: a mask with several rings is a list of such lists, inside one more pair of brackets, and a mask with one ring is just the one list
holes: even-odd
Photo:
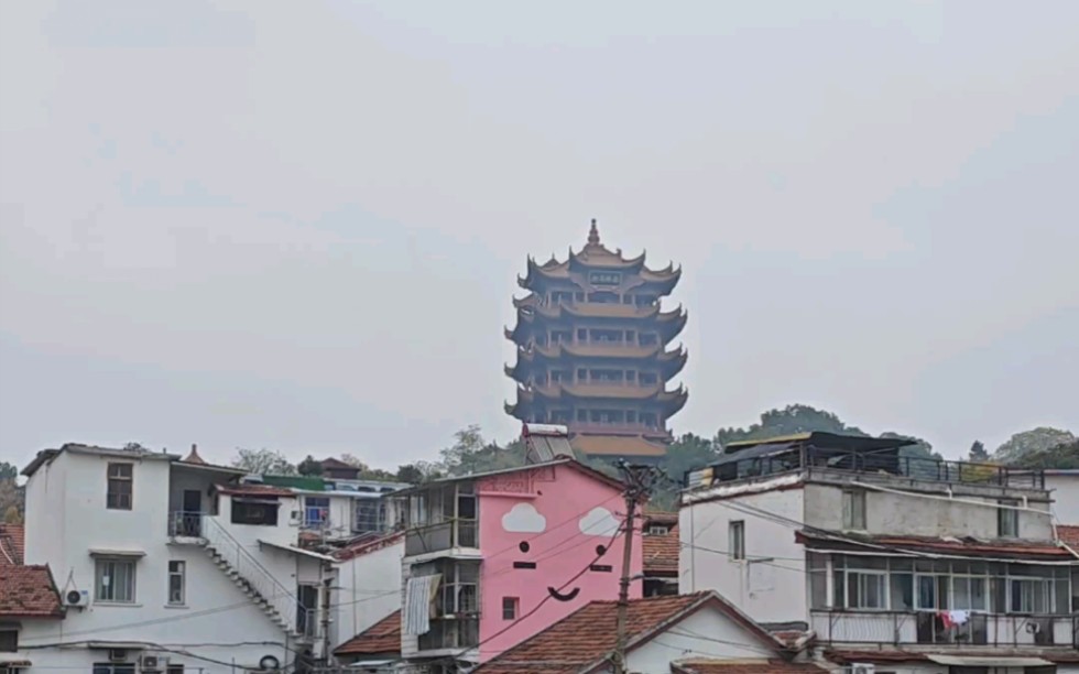
[(297, 496), (188, 458), (69, 444), (23, 470), (25, 563), (66, 607), (20, 623), (31, 674), (231, 673), (335, 645), (337, 562), (297, 545)]

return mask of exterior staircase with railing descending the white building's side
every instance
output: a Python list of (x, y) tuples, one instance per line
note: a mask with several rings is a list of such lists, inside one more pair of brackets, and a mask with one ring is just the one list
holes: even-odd
[[(192, 518), (193, 513), (177, 513)], [(259, 561), (230, 534), (216, 518), (197, 514), (198, 529), (187, 522), (187, 532), (197, 531), (193, 539), (206, 551), (215, 566), (240, 588), (265, 616), (297, 643), (314, 643), (317, 621), (314, 609), (299, 608), (296, 596), (281, 584)], [(305, 615), (301, 616), (301, 612)], [(301, 629), (301, 626), (306, 629)]]

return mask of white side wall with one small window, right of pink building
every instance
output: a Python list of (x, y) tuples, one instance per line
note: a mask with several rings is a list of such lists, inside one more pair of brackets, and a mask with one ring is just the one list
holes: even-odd
[[(805, 551), (792, 525), (734, 510), (745, 504), (803, 521), (802, 489), (684, 506), (678, 514), (680, 594), (716, 590), (761, 622), (806, 620)], [(729, 530), (743, 521), (746, 559), (731, 559)]]

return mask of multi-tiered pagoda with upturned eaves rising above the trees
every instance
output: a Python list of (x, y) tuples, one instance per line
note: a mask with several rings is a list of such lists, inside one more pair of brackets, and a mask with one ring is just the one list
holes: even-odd
[(682, 410), (685, 388), (667, 382), (686, 365), (683, 347), (667, 348), (686, 325), (679, 306), (661, 298), (682, 270), (652, 270), (644, 253), (626, 259), (599, 240), (596, 220), (588, 243), (559, 262), (528, 258), (514, 298), (517, 324), (505, 336), (517, 346), (505, 373), (517, 382), (506, 412), (526, 423), (564, 424), (586, 456), (662, 457), (671, 441), (667, 420)]

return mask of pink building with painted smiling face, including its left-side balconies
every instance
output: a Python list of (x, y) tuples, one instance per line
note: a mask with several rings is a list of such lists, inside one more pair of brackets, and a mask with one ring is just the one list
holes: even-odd
[[(401, 655), (484, 662), (618, 598), (622, 485), (573, 459), (429, 482), (406, 513)], [(631, 575), (640, 577), (640, 531)], [(641, 597), (641, 581), (630, 586)]]

